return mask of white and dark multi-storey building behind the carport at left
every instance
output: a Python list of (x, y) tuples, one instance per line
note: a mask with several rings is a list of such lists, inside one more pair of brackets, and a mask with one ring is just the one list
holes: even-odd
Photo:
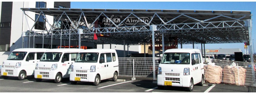
[[(30, 17), (25, 18), (23, 11), (20, 8), (70, 8), (70, 2), (0, 2), (0, 64), (6, 60), (9, 54), (18, 48), (33, 48), (33, 38), (25, 37), (24, 44), (22, 44), (22, 31), (27, 31), (28, 24), (34, 24), (33, 20), (39, 17), (38, 22), (32, 31), (35, 30), (45, 30), (50, 28), (44, 25), (46, 22), (43, 20), (44, 16), (39, 16), (36, 13), (27, 13)], [(50, 18), (50, 19), (49, 19)], [(31, 22), (26, 23), (26, 20), (31, 20)], [(53, 17), (47, 17), (50, 23), (53, 22)], [(35, 38), (35, 48), (42, 48), (42, 39)], [(51, 42), (49, 40), (44, 40), (44, 48), (49, 48)], [(58, 41), (52, 43), (55, 45)], [(73, 44), (76, 44), (73, 42)], [(57, 44), (56, 44), (57, 45)], [(30, 47), (29, 47), (30, 46)], [(56, 46), (54, 46), (56, 48)], [(53, 48), (54, 48), (53, 47)]]

